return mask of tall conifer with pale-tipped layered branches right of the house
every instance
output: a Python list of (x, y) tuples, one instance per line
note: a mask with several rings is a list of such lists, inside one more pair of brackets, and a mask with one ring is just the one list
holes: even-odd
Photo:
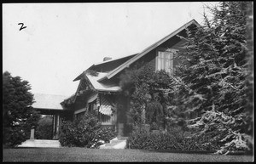
[[(209, 135), (218, 153), (250, 150), (252, 117), (247, 108), (247, 2), (209, 8), (212, 20), (188, 31), (187, 51), (177, 67), (177, 110), (193, 116), (195, 135)], [(182, 104), (180, 103), (182, 102)], [(192, 115), (191, 115), (192, 114)]]

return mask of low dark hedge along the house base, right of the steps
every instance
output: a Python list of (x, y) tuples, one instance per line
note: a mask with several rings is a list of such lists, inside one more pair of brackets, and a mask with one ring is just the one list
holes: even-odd
[(137, 128), (127, 139), (127, 147), (141, 150), (177, 150), (177, 151), (208, 151), (217, 150), (218, 146), (209, 144), (207, 136), (204, 139), (185, 137), (183, 132), (147, 133), (143, 128)]

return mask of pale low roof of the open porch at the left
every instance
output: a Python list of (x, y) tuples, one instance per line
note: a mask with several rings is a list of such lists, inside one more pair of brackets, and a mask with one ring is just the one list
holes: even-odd
[(32, 107), (42, 110), (63, 110), (60, 103), (64, 99), (67, 99), (67, 96), (34, 93), (35, 103), (32, 104)]

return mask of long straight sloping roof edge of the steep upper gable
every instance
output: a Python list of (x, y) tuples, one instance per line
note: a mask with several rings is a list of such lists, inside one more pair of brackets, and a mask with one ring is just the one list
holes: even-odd
[(186, 23), (185, 25), (179, 27), (176, 31), (173, 31), (170, 35), (162, 38), (160, 41), (155, 42), (154, 44), (152, 44), (151, 46), (149, 46), (148, 48), (145, 48), (140, 54), (137, 54), (136, 56), (134, 56), (133, 58), (127, 60), (124, 64), (119, 65), (117, 68), (115, 68), (113, 71), (108, 72), (108, 74), (104, 77), (102, 77), (101, 79), (98, 80), (98, 82), (102, 81), (103, 79), (110, 79), (111, 77), (115, 76), (116, 74), (118, 74), (120, 71), (123, 71), (126, 67), (129, 67), (129, 65), (131, 65), (132, 63), (134, 63), (135, 61), (137, 61), (137, 59), (142, 58), (145, 54), (148, 54), (148, 52), (150, 52), (151, 50), (153, 50), (154, 48), (157, 48), (158, 46), (160, 46), (160, 44), (162, 44), (163, 42), (166, 42), (167, 40), (169, 40), (170, 38), (176, 36), (180, 31), (183, 31), (184, 29), (186, 29), (189, 25), (196, 25), (196, 26), (200, 26), (200, 24), (195, 21), (195, 20), (190, 20), (188, 23)]

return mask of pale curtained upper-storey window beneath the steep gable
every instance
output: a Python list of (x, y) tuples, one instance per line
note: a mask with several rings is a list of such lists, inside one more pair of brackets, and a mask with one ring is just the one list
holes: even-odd
[(168, 73), (173, 71), (173, 54), (176, 49), (168, 49), (167, 51), (157, 51), (156, 71), (165, 70)]

